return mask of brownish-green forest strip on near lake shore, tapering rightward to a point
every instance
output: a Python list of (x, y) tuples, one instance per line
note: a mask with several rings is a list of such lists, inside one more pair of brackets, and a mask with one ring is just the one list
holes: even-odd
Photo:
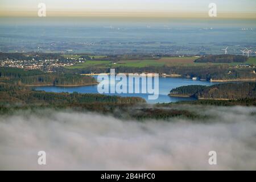
[(0, 84), (0, 105), (65, 105), (96, 102), (133, 104), (137, 102), (144, 103), (145, 101), (139, 97), (125, 98), (101, 94), (51, 93), (35, 91), (24, 86)]

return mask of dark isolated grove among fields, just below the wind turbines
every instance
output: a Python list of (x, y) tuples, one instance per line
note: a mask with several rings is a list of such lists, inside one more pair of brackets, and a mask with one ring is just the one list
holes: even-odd
[(248, 57), (241, 55), (209, 55), (200, 57), (195, 63), (245, 63)]

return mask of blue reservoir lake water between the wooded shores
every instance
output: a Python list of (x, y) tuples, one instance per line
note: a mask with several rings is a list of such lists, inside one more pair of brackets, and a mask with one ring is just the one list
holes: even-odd
[[(128, 81), (127, 81), (128, 82)], [(150, 104), (156, 104), (156, 103), (169, 103), (169, 102), (177, 102), (177, 101), (191, 101), (195, 100), (195, 98), (183, 98), (183, 97), (170, 97), (168, 94), (170, 93), (171, 89), (177, 88), (179, 86), (186, 86), (186, 85), (213, 85), (214, 83), (208, 82), (208, 81), (193, 81), (189, 79), (184, 78), (164, 78), (159, 77), (159, 97), (157, 100), (148, 100), (148, 95), (152, 94), (107, 94), (107, 95), (116, 95), (121, 97), (142, 97), (144, 98), (148, 103)], [(142, 85), (142, 82), (140, 82), (140, 88), (144, 85)], [(154, 86), (154, 85), (153, 85)], [(36, 90), (44, 90), (46, 92), (78, 92), (78, 93), (98, 93), (97, 85), (90, 85), (90, 86), (77, 86), (77, 87), (61, 87), (61, 86), (40, 86), (36, 87)]]

